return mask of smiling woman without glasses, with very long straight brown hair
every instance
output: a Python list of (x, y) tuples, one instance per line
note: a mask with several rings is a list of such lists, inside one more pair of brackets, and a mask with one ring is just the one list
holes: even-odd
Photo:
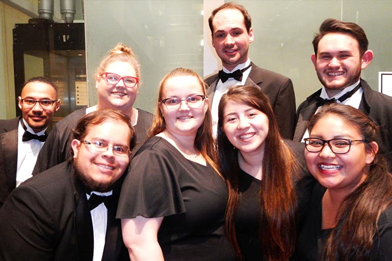
[(239, 259), (287, 260), (298, 225), (296, 156), (282, 141), (268, 98), (258, 89), (229, 89), (218, 114), (218, 158), (229, 190), (226, 231), (231, 245)]

